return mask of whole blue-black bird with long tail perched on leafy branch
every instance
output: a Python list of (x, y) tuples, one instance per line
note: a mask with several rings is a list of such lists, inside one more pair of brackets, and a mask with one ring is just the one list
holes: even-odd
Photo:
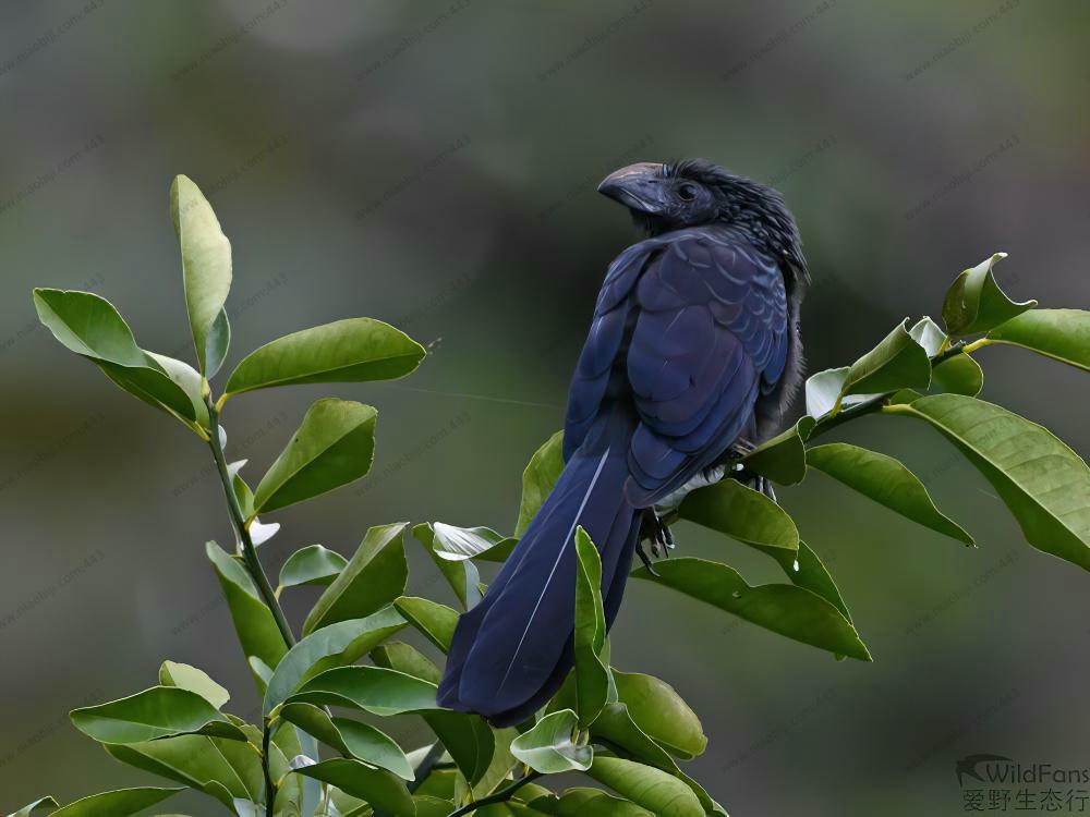
[[(568, 394), (564, 471), (483, 599), (463, 612), (440, 706), (526, 722), (573, 666), (576, 549), (602, 559), (610, 626), (659, 513), (774, 434), (802, 379), (810, 282), (795, 218), (773, 188), (705, 159), (638, 162), (598, 192), (643, 237), (602, 283)], [(638, 547), (639, 545), (639, 547)]]

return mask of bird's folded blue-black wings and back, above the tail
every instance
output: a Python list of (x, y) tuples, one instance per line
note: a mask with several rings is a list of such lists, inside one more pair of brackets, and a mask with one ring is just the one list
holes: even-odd
[(631, 249), (641, 247), (606, 277), (572, 382), (565, 449), (578, 447), (623, 361), (640, 418), (626, 490), (646, 507), (748, 430), (759, 394), (783, 375), (788, 316), (775, 263), (731, 232), (687, 230)]

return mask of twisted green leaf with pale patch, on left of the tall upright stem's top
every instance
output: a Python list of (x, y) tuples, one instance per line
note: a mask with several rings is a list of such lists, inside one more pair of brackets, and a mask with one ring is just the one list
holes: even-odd
[[(199, 376), (194, 391), (193, 378), (185, 371), (192, 371), (189, 366), (137, 346), (129, 325), (109, 301), (90, 292), (37, 289), (34, 306), (58, 341), (95, 363), (130, 394), (183, 423), (199, 420), (207, 427)], [(160, 362), (169, 362), (170, 369)]]

